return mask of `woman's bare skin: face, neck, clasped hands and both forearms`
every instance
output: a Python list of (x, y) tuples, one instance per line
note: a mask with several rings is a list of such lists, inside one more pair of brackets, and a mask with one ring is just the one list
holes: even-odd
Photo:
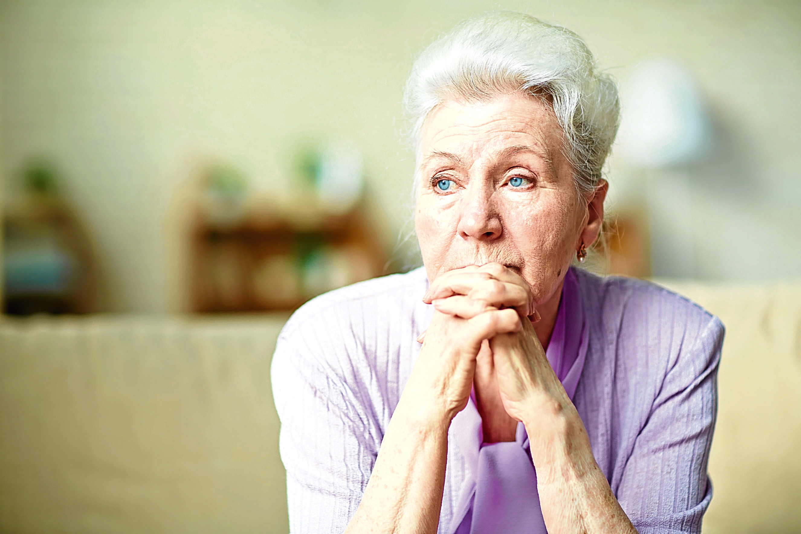
[(437, 532), (449, 427), (474, 387), (485, 443), (537, 429), (548, 532), (636, 534), (543, 348), (606, 183), (578, 193), (553, 112), (528, 95), (445, 102), (422, 135), (415, 223), (435, 311), (346, 532)]

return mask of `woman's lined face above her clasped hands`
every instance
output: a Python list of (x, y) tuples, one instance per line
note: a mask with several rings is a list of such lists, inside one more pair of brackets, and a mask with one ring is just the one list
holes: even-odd
[[(415, 226), (429, 280), (471, 264), (512, 267), (545, 319), (535, 326), (543, 344), (589, 217), (564, 146), (553, 110), (538, 98), (448, 101), (425, 122), (417, 169)], [(514, 177), (523, 187), (513, 187)], [(452, 182), (448, 191), (439, 179)]]

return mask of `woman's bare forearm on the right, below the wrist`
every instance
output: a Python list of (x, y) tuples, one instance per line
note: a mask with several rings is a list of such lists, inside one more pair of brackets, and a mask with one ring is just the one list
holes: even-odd
[(531, 456), (550, 534), (637, 534), (598, 468), (578, 413), (525, 426), (532, 429)]

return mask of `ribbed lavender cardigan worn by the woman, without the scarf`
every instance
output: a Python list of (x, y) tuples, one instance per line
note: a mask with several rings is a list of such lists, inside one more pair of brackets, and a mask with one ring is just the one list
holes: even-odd
[[(662, 287), (574, 273), (590, 328), (574, 404), (595, 459), (640, 534), (700, 532), (723, 324)], [(272, 387), (291, 532), (342, 532), (356, 512), (431, 320), (427, 288), (422, 268), (357, 283), (281, 332)], [(438, 532), (461, 520), (466, 475), (449, 436)]]

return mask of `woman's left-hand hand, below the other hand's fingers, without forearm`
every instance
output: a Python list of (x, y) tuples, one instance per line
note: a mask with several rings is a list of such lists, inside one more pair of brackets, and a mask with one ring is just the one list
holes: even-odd
[(467, 405), (484, 340), (520, 328), (520, 316), (512, 308), (489, 308), (471, 319), (434, 311), (401, 402), (404, 397), (409, 401), (405, 408), (417, 420), (449, 424)]

